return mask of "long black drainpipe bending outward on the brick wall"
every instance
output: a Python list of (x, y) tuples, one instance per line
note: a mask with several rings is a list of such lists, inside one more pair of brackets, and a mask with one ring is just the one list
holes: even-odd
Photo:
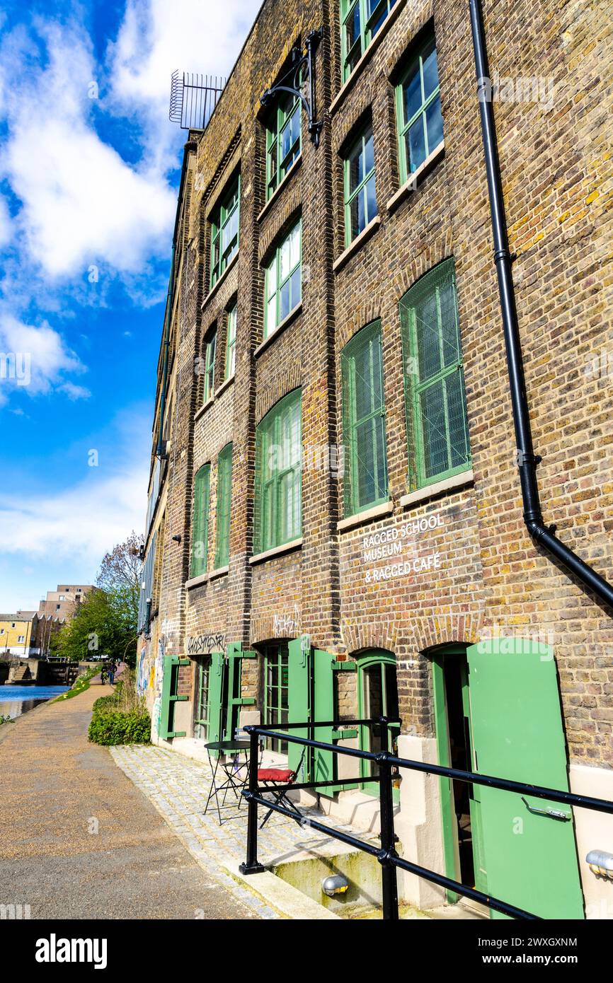
[(502, 194), (498, 146), (496, 144), (496, 128), (485, 48), (483, 15), (480, 0), (469, 0), (469, 5), (472, 46), (477, 75), (477, 95), (481, 114), (483, 150), (485, 153), (487, 186), (492, 212), (494, 261), (498, 273), (498, 290), (505, 328), (505, 345), (507, 349), (511, 402), (513, 405), (513, 421), (518, 447), (518, 466), (520, 468), (521, 497), (523, 499), (523, 521), (530, 536), (536, 543), (548, 549), (556, 559), (581, 580), (585, 587), (593, 591), (601, 601), (613, 607), (613, 587), (600, 574), (588, 566), (587, 563), (584, 563), (577, 553), (565, 546), (554, 535), (555, 526), (546, 526), (543, 522), (538, 496), (538, 485), (536, 482), (536, 466), (540, 463), (541, 457), (534, 454), (527, 397), (525, 394), (520, 326), (518, 323), (515, 289), (513, 286), (513, 274), (511, 271), (515, 257), (509, 252), (509, 236), (507, 233), (505, 205)]

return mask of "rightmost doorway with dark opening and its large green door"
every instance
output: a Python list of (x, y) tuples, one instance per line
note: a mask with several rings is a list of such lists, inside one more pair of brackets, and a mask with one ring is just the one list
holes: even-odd
[[(434, 660), (434, 686), (442, 764), (569, 790), (551, 648), (503, 638), (443, 655)], [(451, 877), (467, 883), (470, 852), (479, 891), (541, 918), (583, 918), (569, 806), (476, 784), (466, 797), (465, 784), (448, 780), (442, 791)]]

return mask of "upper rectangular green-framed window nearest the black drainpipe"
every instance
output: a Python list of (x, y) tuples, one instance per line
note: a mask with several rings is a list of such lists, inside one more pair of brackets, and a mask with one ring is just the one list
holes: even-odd
[(441, 88), (434, 34), (423, 44), (396, 87), (400, 183), (443, 143)]

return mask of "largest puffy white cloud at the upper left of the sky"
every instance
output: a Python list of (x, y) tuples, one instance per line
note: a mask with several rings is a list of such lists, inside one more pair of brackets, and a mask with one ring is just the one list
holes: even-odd
[[(15, 222), (51, 278), (92, 263), (134, 273), (167, 246), (174, 193), (160, 172), (129, 165), (96, 134), (87, 34), (49, 22), (37, 31), (37, 38), (14, 31), (1, 52), (9, 126), (2, 168), (22, 202)], [(47, 55), (43, 68), (25, 65), (34, 40)]]

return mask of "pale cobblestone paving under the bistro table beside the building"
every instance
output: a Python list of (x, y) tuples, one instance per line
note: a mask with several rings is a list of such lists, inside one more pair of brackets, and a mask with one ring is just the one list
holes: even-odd
[[(165, 748), (136, 744), (112, 748), (111, 753), (128, 778), (148, 796), (173, 832), (212, 875), (222, 876), (219, 863), (224, 859), (226, 862), (245, 859), (246, 804), (236, 809), (234, 800), (230, 808), (222, 810), (221, 826), (213, 802), (204, 814), (212, 777), (208, 764)], [(229, 793), (226, 807), (232, 798)], [(350, 832), (348, 827), (330, 817), (322, 817), (315, 809), (301, 806), (300, 811), (307, 817), (312, 815), (327, 825)], [(298, 853), (337, 851), (338, 845), (336, 839), (300, 827), (293, 820), (274, 813), (264, 829), (258, 832), (258, 859), (263, 864), (279, 863)], [(261, 917), (275, 915), (263, 912)]]

